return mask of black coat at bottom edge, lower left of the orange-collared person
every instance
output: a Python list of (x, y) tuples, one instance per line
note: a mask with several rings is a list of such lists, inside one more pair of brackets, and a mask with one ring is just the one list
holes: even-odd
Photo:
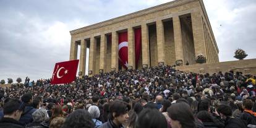
[(233, 117), (226, 119), (225, 128), (247, 128), (247, 126), (241, 119)]

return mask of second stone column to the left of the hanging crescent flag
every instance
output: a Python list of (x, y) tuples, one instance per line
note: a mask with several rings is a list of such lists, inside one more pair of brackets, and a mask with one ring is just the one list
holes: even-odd
[(100, 70), (106, 72), (106, 35), (104, 33), (100, 36)]

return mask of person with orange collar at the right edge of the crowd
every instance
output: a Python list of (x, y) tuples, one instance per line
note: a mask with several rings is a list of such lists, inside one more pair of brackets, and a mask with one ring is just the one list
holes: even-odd
[(252, 111), (253, 105), (254, 103), (252, 102), (252, 100), (246, 99), (242, 101), (242, 109), (244, 109), (244, 111), (239, 118), (245, 122), (246, 126), (249, 124), (256, 125), (256, 113)]

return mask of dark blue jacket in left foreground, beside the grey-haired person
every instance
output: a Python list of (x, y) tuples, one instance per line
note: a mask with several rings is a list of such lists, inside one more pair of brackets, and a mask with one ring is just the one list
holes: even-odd
[(19, 122), (22, 123), (23, 126), (33, 122), (32, 113), (34, 113), (35, 111), (36, 111), (36, 109), (33, 108), (32, 106), (25, 106), (25, 109), (22, 113), (22, 116), (20, 117)]

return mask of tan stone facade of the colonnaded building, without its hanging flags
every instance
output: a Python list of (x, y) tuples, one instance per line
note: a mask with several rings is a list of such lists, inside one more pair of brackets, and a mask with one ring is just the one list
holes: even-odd
[[(142, 29), (142, 54), (135, 67), (134, 28)], [(79, 71), (85, 74), (86, 48), (89, 47), (89, 75), (119, 70), (118, 33), (128, 33), (129, 66), (195, 64), (203, 54), (207, 63), (218, 62), (218, 46), (202, 0), (176, 0), (132, 14), (70, 31), (70, 60), (77, 59), (81, 45)], [(111, 35), (111, 43), (108, 43)], [(86, 44), (86, 45), (85, 45)], [(85, 52), (85, 53), (84, 53)]]

